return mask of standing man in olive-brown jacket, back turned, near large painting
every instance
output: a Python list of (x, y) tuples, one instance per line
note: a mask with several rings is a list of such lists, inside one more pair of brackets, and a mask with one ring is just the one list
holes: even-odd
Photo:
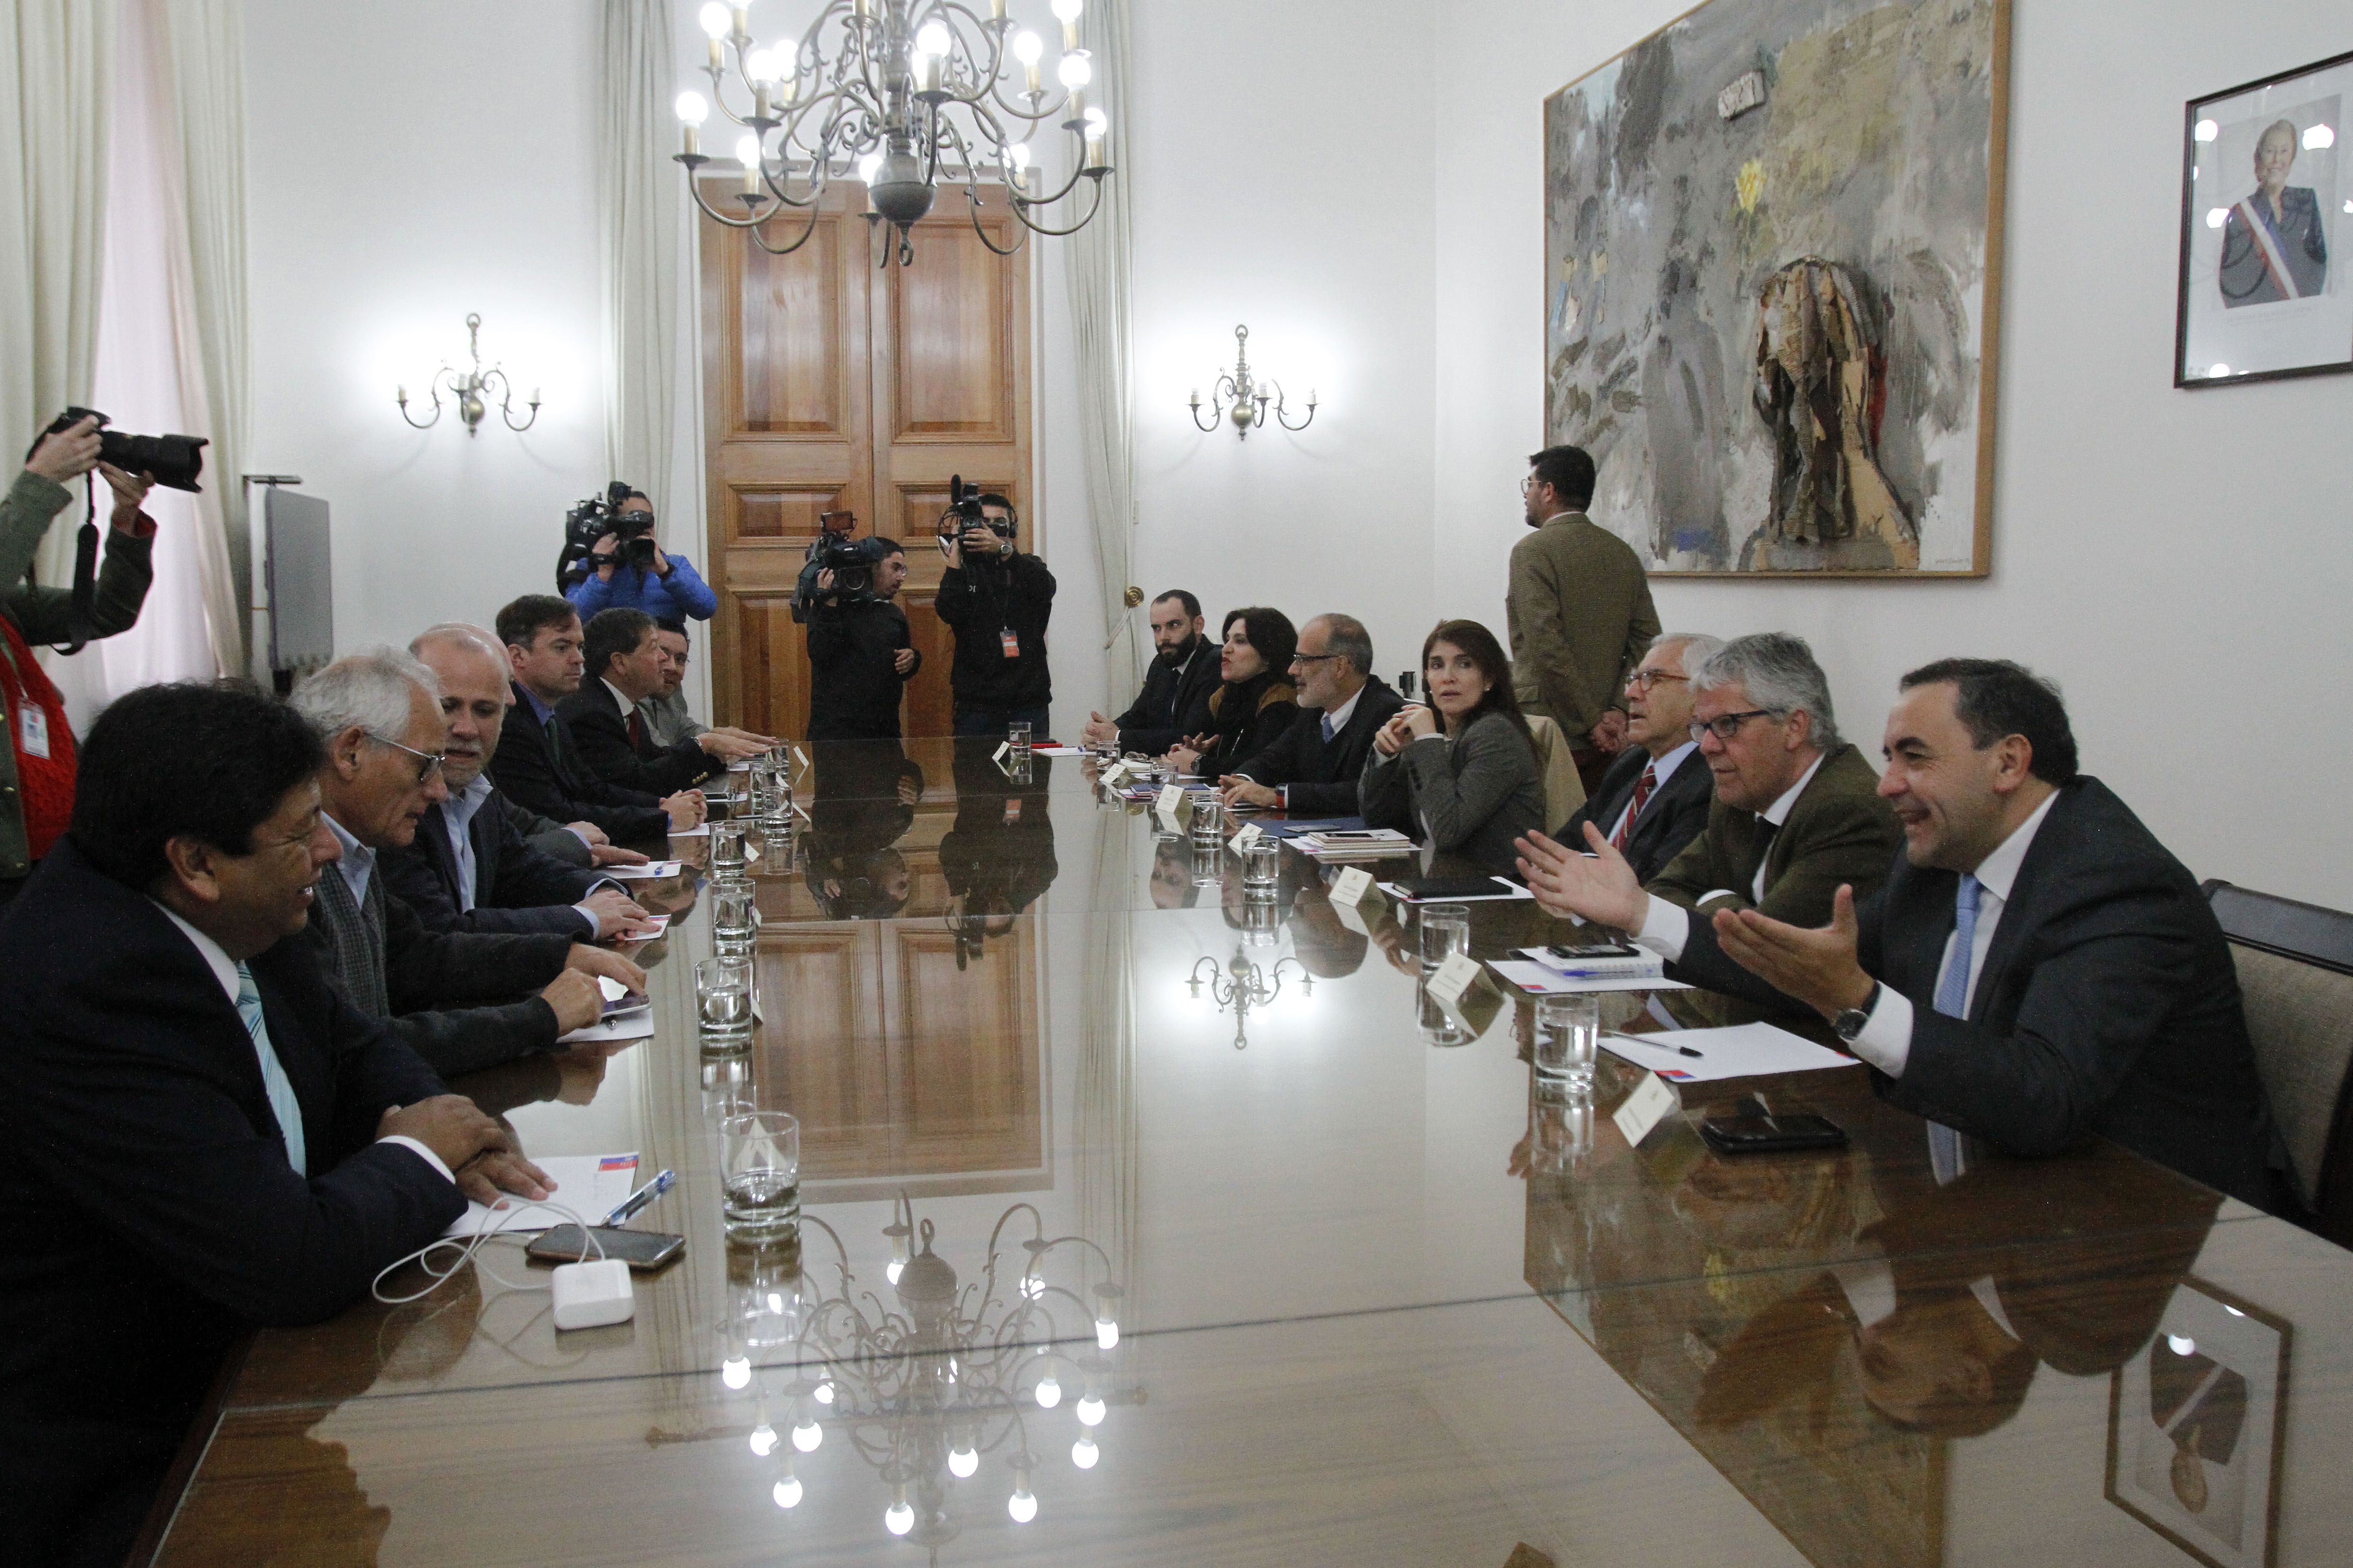
[(1659, 635), (1642, 559), (1586, 517), (1593, 458), (1546, 447), (1527, 458), (1527, 538), (1511, 548), (1511, 679), (1520, 712), (1548, 715), (1569, 738), (1586, 795), (1626, 745), (1619, 689)]

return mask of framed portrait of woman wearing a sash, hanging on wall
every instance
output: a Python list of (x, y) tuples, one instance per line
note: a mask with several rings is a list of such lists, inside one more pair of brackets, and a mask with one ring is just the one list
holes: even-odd
[(2188, 101), (2174, 386), (2353, 369), (2348, 103), (2353, 54)]

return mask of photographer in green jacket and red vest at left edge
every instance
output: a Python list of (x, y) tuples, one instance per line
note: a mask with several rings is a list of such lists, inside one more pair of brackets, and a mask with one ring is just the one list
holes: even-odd
[[(49, 430), (33, 444), (24, 473), (0, 501), (0, 583), (16, 583), (0, 592), (0, 698), (7, 701), (9, 729), (9, 745), (0, 752), (0, 903), (16, 896), (73, 813), (73, 731), (66, 729), (56, 686), (33, 658), (33, 644), (68, 642), (78, 632), (127, 632), (139, 621), (155, 576), (148, 559), (155, 520), (139, 510), (155, 477), (141, 473), (134, 480), (113, 463), (101, 463), (99, 447), (99, 416)], [(96, 576), (87, 623), (78, 628), (73, 590), (33, 588), (26, 569), (49, 522), (73, 501), (66, 480), (92, 468), (106, 475), (115, 512), (106, 567)]]

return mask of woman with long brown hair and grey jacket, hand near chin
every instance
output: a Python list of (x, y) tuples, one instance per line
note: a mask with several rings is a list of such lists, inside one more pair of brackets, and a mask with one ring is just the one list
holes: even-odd
[(1421, 644), (1421, 686), (1431, 705), (1407, 703), (1372, 738), (1365, 823), (1508, 872), (1511, 842), (1544, 820), (1544, 769), (1511, 661), (1478, 621), (1440, 621)]

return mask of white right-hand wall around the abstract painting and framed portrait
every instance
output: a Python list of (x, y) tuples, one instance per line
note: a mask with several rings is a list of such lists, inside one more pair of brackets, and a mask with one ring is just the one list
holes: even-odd
[[(1412, 7), (1419, 9), (1419, 7)], [(1445, 614), (1501, 616), (1518, 477), (1544, 437), (1541, 101), (1685, 0), (1459, 0), (1438, 87), (1438, 430)], [(2353, 378), (2172, 388), (2181, 106), (2344, 49), (2344, 9), (2127, 12), (2021, 0), (1993, 576), (1654, 585), (1671, 625), (1795, 630), (1875, 738), (1894, 679), (1944, 654), (2054, 675), (2085, 766), (2202, 877), (2353, 903), (2341, 548)], [(2245, 757), (2271, 752), (2261, 778)]]

